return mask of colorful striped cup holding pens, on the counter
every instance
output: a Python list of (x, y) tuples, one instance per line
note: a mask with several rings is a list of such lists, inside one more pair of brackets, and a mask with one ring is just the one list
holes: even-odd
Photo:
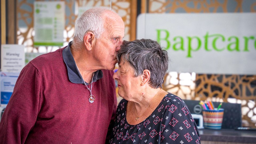
[(221, 129), (224, 109), (203, 110), (203, 126), (206, 129)]

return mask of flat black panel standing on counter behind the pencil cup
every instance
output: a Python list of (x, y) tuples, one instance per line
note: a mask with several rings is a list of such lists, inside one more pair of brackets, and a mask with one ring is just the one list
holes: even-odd
[[(198, 109), (197, 106), (194, 110), (196, 105), (199, 105), (200, 101), (193, 101), (193, 100), (183, 100), (191, 114), (201, 114), (202, 111)], [(220, 102), (213, 102), (215, 108), (219, 106)], [(242, 126), (242, 111), (241, 111), (241, 104), (238, 103), (226, 103), (222, 102), (222, 109), (224, 109), (223, 114), (223, 121), (222, 121), (222, 129), (237, 129), (237, 127)]]

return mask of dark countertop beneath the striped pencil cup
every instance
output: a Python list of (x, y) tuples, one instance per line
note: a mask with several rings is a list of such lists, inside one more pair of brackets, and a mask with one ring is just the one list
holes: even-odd
[(256, 131), (198, 129), (201, 141), (256, 143)]

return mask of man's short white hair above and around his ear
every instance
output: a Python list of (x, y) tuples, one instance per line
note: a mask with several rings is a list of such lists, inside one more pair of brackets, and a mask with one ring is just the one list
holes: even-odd
[(83, 42), (84, 35), (91, 31), (95, 38), (99, 38), (104, 31), (102, 16), (104, 12), (111, 10), (106, 7), (95, 7), (85, 11), (81, 17), (75, 21), (74, 39)]

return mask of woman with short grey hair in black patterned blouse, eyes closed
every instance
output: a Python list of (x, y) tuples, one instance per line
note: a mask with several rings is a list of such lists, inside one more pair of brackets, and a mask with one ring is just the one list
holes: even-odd
[(117, 107), (110, 143), (200, 143), (197, 126), (181, 98), (161, 89), (168, 56), (157, 42), (124, 41), (118, 51)]

